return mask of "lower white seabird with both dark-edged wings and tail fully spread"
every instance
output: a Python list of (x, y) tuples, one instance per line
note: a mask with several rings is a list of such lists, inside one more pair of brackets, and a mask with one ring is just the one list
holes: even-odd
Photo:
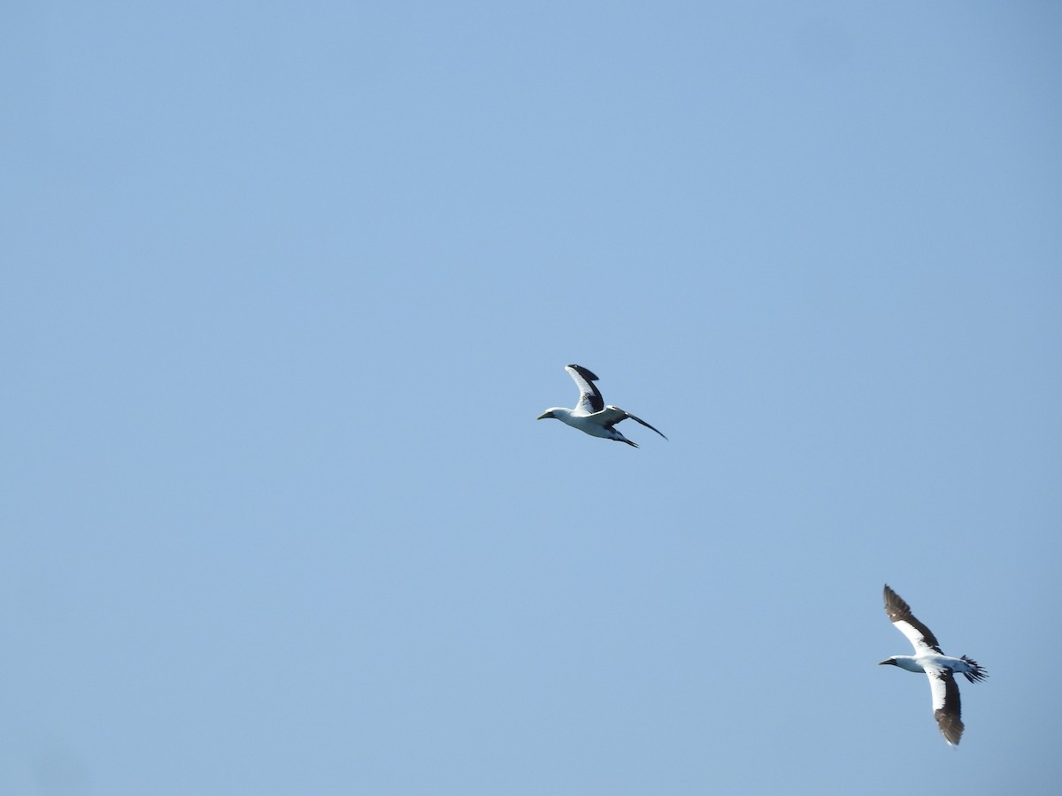
[(954, 675), (958, 672), (971, 682), (978, 682), (989, 673), (965, 655), (961, 658), (944, 655), (932, 630), (914, 618), (911, 607), (888, 584), (885, 586), (885, 612), (914, 646), (914, 655), (891, 655), (878, 665), (891, 663), (908, 672), (921, 672), (929, 678), (937, 726), (948, 745), (958, 746), (962, 738), (962, 708)]

